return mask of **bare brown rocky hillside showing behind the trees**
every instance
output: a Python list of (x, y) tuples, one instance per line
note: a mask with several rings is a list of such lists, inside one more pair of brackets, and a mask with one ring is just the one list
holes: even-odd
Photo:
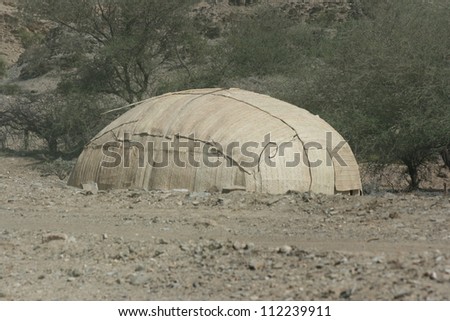
[[(24, 93), (46, 93), (56, 89), (61, 76), (67, 70), (61, 70), (60, 63), (70, 53), (60, 52), (58, 48), (66, 33), (48, 23), (30, 24), (23, 20), (17, 10), (17, 0), (0, 1), (0, 59), (7, 64), (6, 77), (0, 79), (0, 96)], [(197, 28), (207, 38), (222, 36), (230, 24), (242, 15), (249, 15), (264, 7), (287, 12), (299, 21), (314, 19), (345, 20), (352, 12), (352, 6), (346, 1), (333, 3), (322, 0), (260, 0), (260, 1), (200, 1), (192, 6), (189, 15), (194, 17)], [(50, 50), (50, 52), (49, 52)], [(70, 59), (70, 58), (69, 58)], [(0, 97), (0, 99), (2, 99)], [(3, 97), (3, 99), (5, 99)]]

